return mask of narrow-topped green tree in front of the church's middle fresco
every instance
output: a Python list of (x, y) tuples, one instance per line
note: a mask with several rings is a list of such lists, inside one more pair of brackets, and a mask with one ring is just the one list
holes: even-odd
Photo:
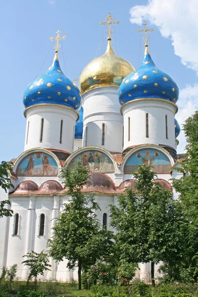
[(48, 242), (50, 256), (58, 261), (66, 258), (67, 267), (78, 266), (78, 286), (81, 290), (81, 271), (86, 271), (97, 260), (110, 252), (112, 232), (103, 230), (97, 219), (99, 204), (95, 195), (84, 195), (81, 191), (89, 184), (89, 170), (80, 163), (61, 172), (64, 186), (70, 197), (58, 218), (52, 238)]

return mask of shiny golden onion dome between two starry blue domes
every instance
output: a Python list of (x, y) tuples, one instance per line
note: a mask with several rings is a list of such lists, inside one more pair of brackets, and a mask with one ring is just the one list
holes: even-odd
[(115, 54), (108, 37), (105, 53), (91, 61), (82, 71), (79, 79), (81, 93), (88, 90), (111, 86), (119, 88), (122, 80), (135, 68), (127, 60)]

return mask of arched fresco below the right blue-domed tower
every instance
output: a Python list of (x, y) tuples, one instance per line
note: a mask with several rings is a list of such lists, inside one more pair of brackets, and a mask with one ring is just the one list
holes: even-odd
[(124, 173), (132, 173), (136, 171), (140, 164), (154, 167), (152, 168), (152, 171), (156, 173), (169, 172), (171, 168), (169, 159), (162, 152), (152, 148), (145, 148), (136, 151), (128, 158), (124, 166)]

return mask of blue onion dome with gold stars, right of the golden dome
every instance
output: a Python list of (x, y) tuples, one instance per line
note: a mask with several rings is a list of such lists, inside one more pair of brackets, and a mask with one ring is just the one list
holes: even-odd
[(118, 97), (121, 105), (139, 98), (159, 98), (176, 103), (179, 88), (168, 74), (155, 66), (146, 45), (142, 64), (123, 80)]

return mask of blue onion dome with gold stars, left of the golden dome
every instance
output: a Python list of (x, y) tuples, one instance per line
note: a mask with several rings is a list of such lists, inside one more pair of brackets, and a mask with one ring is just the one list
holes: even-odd
[(25, 107), (41, 103), (60, 104), (75, 110), (81, 107), (81, 93), (62, 73), (57, 52), (49, 70), (30, 83), (23, 94)]

